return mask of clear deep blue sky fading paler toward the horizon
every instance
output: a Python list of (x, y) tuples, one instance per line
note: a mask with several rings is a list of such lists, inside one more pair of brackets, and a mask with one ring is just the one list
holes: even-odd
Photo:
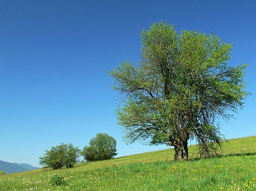
[[(117, 93), (106, 71), (139, 59), (139, 33), (161, 20), (234, 42), (229, 64), (249, 64), (252, 95), (226, 138), (256, 135), (256, 1), (0, 1), (0, 160), (38, 166), (59, 143), (82, 149), (98, 132), (118, 156), (167, 146), (127, 146), (116, 124)], [(167, 153), (168, 155), (168, 153)], [(169, 156), (170, 157), (170, 156)]]

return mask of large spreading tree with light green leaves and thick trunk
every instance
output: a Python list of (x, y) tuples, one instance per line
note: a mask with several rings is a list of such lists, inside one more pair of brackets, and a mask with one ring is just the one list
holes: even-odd
[(243, 107), (247, 65), (228, 66), (231, 44), (216, 35), (181, 31), (153, 23), (141, 38), (141, 61), (124, 61), (108, 72), (113, 88), (123, 95), (118, 124), (128, 143), (174, 146), (175, 159), (188, 158), (188, 140), (196, 139), (200, 154), (221, 146), (219, 121)]

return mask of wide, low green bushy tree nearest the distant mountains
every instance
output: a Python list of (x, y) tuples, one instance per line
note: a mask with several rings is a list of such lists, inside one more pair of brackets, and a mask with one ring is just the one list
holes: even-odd
[(73, 144), (60, 144), (46, 150), (43, 157), (39, 157), (39, 164), (53, 169), (61, 169), (73, 167), (80, 157), (80, 149), (74, 147)]

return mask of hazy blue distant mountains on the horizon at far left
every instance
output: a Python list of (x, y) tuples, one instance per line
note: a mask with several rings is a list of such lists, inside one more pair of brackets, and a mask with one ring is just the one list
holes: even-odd
[(38, 168), (26, 163), (19, 164), (19, 163), (12, 163), (12, 162), (4, 162), (0, 160), (0, 171), (5, 171), (6, 174), (23, 172), (23, 171), (31, 171), (34, 169), (38, 169)]

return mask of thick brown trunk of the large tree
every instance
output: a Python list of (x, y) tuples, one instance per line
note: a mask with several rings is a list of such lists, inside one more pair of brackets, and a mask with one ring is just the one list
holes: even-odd
[(174, 155), (175, 160), (188, 159), (188, 140), (185, 140), (185, 141), (175, 140), (174, 150), (175, 150), (175, 155)]

